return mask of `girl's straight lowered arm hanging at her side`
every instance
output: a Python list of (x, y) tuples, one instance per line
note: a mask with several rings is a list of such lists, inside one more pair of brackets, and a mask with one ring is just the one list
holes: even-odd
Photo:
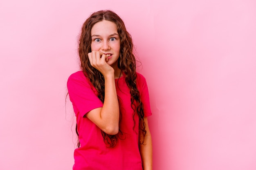
[(144, 138), (144, 144), (139, 144), (139, 150), (142, 160), (143, 170), (153, 169), (153, 149), (152, 149), (152, 139), (148, 128), (148, 118), (144, 117), (144, 122), (146, 124), (146, 135)]

